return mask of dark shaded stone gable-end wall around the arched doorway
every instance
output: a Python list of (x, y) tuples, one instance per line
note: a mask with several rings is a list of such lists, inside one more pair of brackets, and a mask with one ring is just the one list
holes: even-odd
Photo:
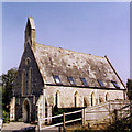
[[(26, 62), (26, 58), (30, 58), (29, 62)], [(29, 87), (29, 69), (32, 68), (32, 85), (31, 85), (31, 94), (28, 92)], [(24, 94), (21, 94), (22, 88), (22, 72), (25, 70), (25, 87), (24, 87)], [(15, 97), (15, 119), (22, 119), (22, 105), (25, 98), (30, 100), (31, 103), (31, 120), (35, 120), (35, 103), (37, 102), (37, 99), (41, 94), (43, 94), (43, 79), (41, 77), (37, 64), (35, 62), (34, 55), (32, 53), (32, 50), (30, 45), (28, 44), (24, 53), (21, 58), (21, 63), (19, 66), (19, 72), (16, 76), (16, 80), (14, 82), (13, 88), (13, 96)]]

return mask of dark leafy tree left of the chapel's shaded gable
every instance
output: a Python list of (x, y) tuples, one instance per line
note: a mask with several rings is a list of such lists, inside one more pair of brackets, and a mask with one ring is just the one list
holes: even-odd
[(12, 88), (16, 76), (16, 68), (11, 68), (7, 74), (0, 76), (2, 86), (2, 109), (9, 112), (9, 105), (12, 98)]

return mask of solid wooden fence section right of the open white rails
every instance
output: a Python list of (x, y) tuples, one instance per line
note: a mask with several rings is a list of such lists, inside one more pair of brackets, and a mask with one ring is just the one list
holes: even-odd
[(113, 122), (130, 116), (130, 102), (114, 100), (85, 109), (85, 124), (90, 125), (101, 122)]

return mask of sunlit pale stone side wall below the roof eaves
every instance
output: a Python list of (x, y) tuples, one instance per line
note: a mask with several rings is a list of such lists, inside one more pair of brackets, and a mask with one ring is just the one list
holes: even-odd
[(91, 94), (95, 105), (99, 105), (107, 100), (124, 99), (123, 90), (107, 90), (107, 89), (92, 89), (92, 88), (77, 88), (77, 87), (63, 87), (63, 86), (45, 86), (45, 95), (47, 101), (53, 107), (55, 106), (56, 92), (59, 92), (58, 106), (59, 108), (75, 108), (75, 94), (77, 92), (77, 107), (85, 107), (84, 98), (87, 99), (87, 107), (91, 106)]

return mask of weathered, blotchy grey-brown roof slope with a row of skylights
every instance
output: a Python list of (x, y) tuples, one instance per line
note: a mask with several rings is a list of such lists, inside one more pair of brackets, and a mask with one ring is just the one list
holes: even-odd
[(82, 77), (90, 87), (100, 87), (97, 79), (101, 79), (108, 88), (114, 88), (111, 82), (114, 80), (124, 89), (106, 57), (42, 44), (35, 44), (34, 56), (45, 84), (55, 84), (53, 75), (58, 75), (63, 85), (70, 85), (67, 76), (72, 76), (77, 86), (82, 86)]

